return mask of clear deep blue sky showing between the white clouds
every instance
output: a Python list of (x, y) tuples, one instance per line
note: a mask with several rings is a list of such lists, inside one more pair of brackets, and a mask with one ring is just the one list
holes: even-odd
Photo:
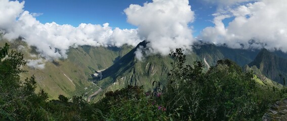
[[(20, 1), (22, 2), (22, 1)], [(25, 10), (30, 13), (41, 13), (36, 17), (41, 23), (56, 22), (57, 24), (70, 24), (77, 27), (80, 23), (104, 24), (109, 23), (111, 27), (120, 29), (137, 28), (127, 22), (124, 10), (131, 4), (143, 5), (151, 0), (28, 0), (25, 1)], [(193, 35), (207, 26), (213, 26), (212, 14), (216, 7), (200, 0), (190, 0), (189, 5), (195, 12)]]

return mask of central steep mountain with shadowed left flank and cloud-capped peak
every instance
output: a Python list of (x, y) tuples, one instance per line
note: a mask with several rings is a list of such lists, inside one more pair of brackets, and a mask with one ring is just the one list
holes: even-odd
[[(114, 65), (102, 72), (103, 80), (98, 85), (109, 90), (116, 90), (128, 85), (144, 85), (145, 89), (152, 88), (153, 81), (164, 82), (169, 72), (172, 58), (169, 56), (151, 55), (139, 61), (135, 51), (139, 46), (146, 46), (143, 41), (122, 56)], [(110, 86), (110, 87), (109, 87)]]

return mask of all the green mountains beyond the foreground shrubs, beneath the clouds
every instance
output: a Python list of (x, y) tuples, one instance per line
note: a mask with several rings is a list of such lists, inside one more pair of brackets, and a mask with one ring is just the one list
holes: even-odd
[[(2, 40), (0, 44), (4, 45), (5, 42), (7, 40)], [(9, 44), (11, 49), (18, 48), (26, 60), (42, 58), (36, 51), (37, 48), (29, 47), (21, 38)], [(57, 98), (59, 94), (71, 97), (84, 93), (89, 96), (98, 90), (92, 82), (107, 90), (121, 89), (128, 85), (144, 85), (146, 90), (150, 90), (154, 81), (164, 86), (173, 59), (170, 56), (154, 54), (146, 56), (142, 62), (138, 61), (135, 51), (140, 45), (145, 47), (146, 44), (147, 42), (143, 41), (135, 48), (128, 45), (120, 48), (86, 45), (70, 48), (67, 59), (43, 62), (45, 69), (25, 66), (28, 73), (22, 74), (22, 77), (35, 75), (36, 90), (44, 89), (50, 99)], [(193, 46), (193, 52), (186, 55), (186, 63), (192, 65), (194, 61), (201, 61), (205, 66), (203, 71), (207, 72), (209, 67), (215, 66), (218, 60), (225, 58), (231, 59), (241, 67), (248, 65), (254, 72), (280, 84), (284, 84), (283, 80), (287, 76), (286, 53), (268, 52), (266, 49), (231, 49), (198, 43)]]

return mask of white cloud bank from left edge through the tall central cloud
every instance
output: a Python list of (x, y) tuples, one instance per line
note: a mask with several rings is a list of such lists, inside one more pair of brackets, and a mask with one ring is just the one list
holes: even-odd
[[(58, 25), (40, 23), (36, 16), (41, 14), (24, 11), (24, 2), (0, 0), (0, 29), (10, 40), (19, 36), (47, 60), (66, 58), (69, 47), (79, 45), (117, 46), (129, 44), (136, 46), (147, 40), (148, 53), (167, 55), (175, 48), (190, 49), (194, 41), (188, 24), (194, 21), (194, 12), (188, 0), (153, 0), (144, 6), (130, 5), (124, 10), (128, 22), (138, 29), (112, 29), (108, 23), (103, 25), (80, 24)], [(10, 8), (13, 11), (8, 11)], [(9, 13), (9, 14), (7, 14)]]

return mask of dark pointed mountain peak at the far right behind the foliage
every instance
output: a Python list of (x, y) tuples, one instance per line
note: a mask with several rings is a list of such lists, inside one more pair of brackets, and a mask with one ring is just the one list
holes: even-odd
[(249, 66), (256, 66), (263, 75), (280, 84), (284, 84), (283, 80), (287, 77), (287, 59), (267, 49), (262, 49)]

